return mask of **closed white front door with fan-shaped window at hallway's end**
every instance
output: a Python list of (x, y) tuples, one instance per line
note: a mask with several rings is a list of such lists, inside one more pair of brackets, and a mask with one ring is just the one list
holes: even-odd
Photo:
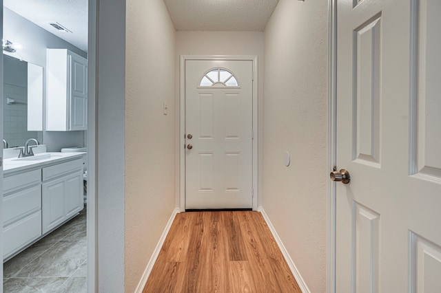
[(185, 61), (185, 208), (252, 208), (252, 61)]

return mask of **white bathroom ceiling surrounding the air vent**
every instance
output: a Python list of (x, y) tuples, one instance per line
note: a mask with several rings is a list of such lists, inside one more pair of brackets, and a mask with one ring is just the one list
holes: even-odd
[[(3, 6), (88, 52), (88, 0), (3, 0)], [(56, 30), (52, 22), (71, 32)]]

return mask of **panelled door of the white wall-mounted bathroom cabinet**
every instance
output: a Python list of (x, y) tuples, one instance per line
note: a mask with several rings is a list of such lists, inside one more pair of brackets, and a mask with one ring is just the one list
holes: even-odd
[(87, 68), (83, 58), (70, 55), (70, 130), (88, 128)]

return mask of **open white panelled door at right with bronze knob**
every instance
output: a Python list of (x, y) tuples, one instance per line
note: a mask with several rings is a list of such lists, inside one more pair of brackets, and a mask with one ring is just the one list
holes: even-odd
[(441, 1), (338, 1), (336, 292), (441, 292)]

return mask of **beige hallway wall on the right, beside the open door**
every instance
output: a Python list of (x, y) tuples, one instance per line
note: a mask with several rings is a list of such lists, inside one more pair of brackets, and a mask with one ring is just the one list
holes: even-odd
[(265, 28), (263, 208), (311, 292), (326, 285), (327, 42), (327, 1), (280, 0)]

